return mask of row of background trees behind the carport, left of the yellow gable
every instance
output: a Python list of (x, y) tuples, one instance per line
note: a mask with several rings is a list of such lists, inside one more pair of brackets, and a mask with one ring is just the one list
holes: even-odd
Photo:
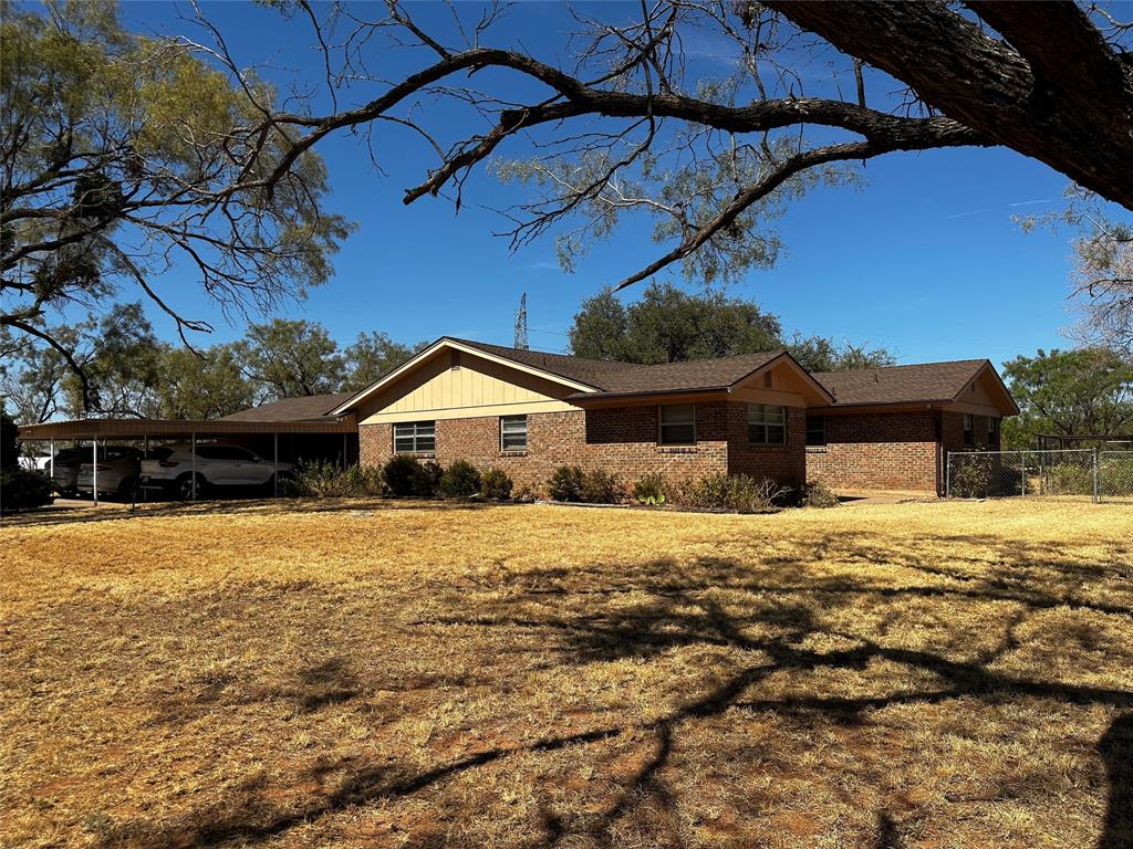
[(193, 350), (159, 340), (140, 303), (67, 329), (84, 386), (62, 353), (8, 340), (0, 394), (20, 423), (84, 414), (215, 419), (286, 397), (360, 389), (420, 348), (384, 333), (340, 345), (317, 321), (250, 324), (235, 342)]

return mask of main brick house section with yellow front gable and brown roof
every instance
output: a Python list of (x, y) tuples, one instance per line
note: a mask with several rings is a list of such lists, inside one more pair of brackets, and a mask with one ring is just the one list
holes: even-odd
[(363, 463), (468, 460), (540, 491), (563, 464), (799, 484), (807, 409), (833, 403), (783, 351), (639, 366), (443, 337), (331, 414), (356, 417)]

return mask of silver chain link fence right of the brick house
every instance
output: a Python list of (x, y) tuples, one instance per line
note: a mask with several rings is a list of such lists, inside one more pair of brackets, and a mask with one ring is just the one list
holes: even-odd
[(1133, 501), (1133, 451), (948, 452), (948, 498), (1077, 496)]

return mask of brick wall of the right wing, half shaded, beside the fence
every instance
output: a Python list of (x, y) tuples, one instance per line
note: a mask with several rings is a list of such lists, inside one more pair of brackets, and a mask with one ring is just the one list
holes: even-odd
[[(927, 410), (827, 415), (826, 446), (804, 455), (807, 480), (844, 489), (937, 491), (944, 481), (937, 415)], [(944, 415), (956, 417), (959, 429), (959, 414)]]

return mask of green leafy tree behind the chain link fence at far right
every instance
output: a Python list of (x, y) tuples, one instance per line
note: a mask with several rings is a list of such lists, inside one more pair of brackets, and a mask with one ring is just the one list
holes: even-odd
[(1020, 415), (1004, 421), (1004, 444), (1036, 446), (1039, 434), (1133, 431), (1133, 365), (1105, 349), (1042, 351), (1005, 363)]

